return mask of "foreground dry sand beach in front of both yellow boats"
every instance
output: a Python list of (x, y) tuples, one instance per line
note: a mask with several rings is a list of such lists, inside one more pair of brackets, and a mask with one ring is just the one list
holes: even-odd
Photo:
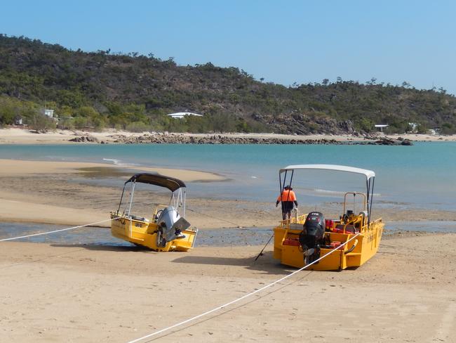
[[(144, 342), (455, 342), (456, 235), (384, 240)], [(260, 246), (189, 253), (0, 243), (1, 342), (128, 342), (290, 273)]]

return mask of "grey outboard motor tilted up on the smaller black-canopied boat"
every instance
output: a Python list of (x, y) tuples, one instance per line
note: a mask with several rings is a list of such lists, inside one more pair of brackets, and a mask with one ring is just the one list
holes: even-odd
[(159, 226), (157, 234), (157, 245), (159, 247), (164, 247), (166, 242), (170, 240), (185, 238), (182, 231), (190, 227), (190, 223), (180, 216), (173, 206), (168, 206), (161, 211), (156, 224)]

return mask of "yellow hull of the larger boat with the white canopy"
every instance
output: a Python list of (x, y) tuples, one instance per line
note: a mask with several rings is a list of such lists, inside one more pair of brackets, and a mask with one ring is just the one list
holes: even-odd
[[(297, 245), (299, 234), (302, 231), (305, 216), (295, 221), (295, 224), (281, 224), (274, 228), (274, 258), (280, 259), (281, 264), (302, 268), (304, 266), (304, 252)], [(337, 249), (318, 263), (309, 266), (312, 271), (337, 271), (349, 267), (358, 267), (366, 263), (375, 255), (382, 239), (384, 224), (377, 219), (366, 225), (360, 234), (341, 249)], [(354, 233), (325, 232), (327, 242), (347, 242)], [(357, 244), (355, 244), (357, 240)], [(291, 243), (291, 244), (290, 244)], [(353, 248), (353, 245), (356, 245)], [(351, 250), (353, 248), (353, 250)], [(320, 257), (333, 249), (321, 248)], [(351, 251), (349, 251), (351, 250)]]

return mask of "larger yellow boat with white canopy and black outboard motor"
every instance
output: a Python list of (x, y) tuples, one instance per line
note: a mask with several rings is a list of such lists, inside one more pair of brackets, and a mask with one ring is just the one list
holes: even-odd
[[(281, 192), (290, 186), (296, 170), (340, 171), (366, 177), (366, 193), (344, 194), (342, 215), (338, 219), (324, 219), (321, 212), (309, 212), (286, 219), (283, 213), (279, 226), (274, 228), (274, 258), (282, 264), (302, 268), (319, 257), (336, 250), (324, 259), (309, 266), (309, 270), (333, 271), (358, 267), (366, 263), (378, 250), (384, 224), (382, 219), (372, 220), (374, 171), (335, 164), (301, 164), (280, 169)], [(289, 180), (288, 180), (289, 176)], [(353, 200), (352, 208), (349, 209)], [(355, 211), (355, 207), (359, 209)], [(356, 238), (343, 245), (354, 235)]]

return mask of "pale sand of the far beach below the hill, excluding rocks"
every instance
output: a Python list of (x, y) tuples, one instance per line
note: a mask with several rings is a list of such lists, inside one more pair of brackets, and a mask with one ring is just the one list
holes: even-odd
[[(113, 143), (119, 135), (129, 136), (129, 137), (140, 137), (144, 134), (150, 134), (150, 132), (127, 132), (127, 131), (114, 131), (107, 130), (102, 132), (92, 132), (92, 131), (69, 131), (69, 130), (55, 130), (48, 131), (46, 133), (36, 133), (29, 129), (20, 129), (20, 128), (8, 128), (0, 129), (0, 144), (75, 144), (69, 140), (79, 136), (93, 136), (97, 138), (98, 141), (104, 141), (106, 143)], [(438, 136), (438, 135), (429, 135), (429, 134), (394, 134), (394, 135), (384, 135), (382, 133), (377, 133), (379, 136), (387, 137), (391, 139), (397, 139), (402, 137), (404, 139), (409, 139), (410, 141), (456, 141), (456, 135), (452, 136)], [(198, 137), (207, 137), (213, 136), (213, 134), (182, 134), (184, 136), (194, 136)], [(217, 134), (218, 135), (218, 134)], [(240, 138), (280, 138), (284, 140), (296, 139), (298, 136), (287, 135), (287, 134), (220, 134), (224, 137), (240, 137)], [(346, 135), (323, 135), (315, 134), (308, 136), (299, 136), (300, 138), (305, 138), (308, 140), (334, 140), (340, 142), (356, 141), (363, 139), (362, 137), (352, 136), (349, 134)]]

